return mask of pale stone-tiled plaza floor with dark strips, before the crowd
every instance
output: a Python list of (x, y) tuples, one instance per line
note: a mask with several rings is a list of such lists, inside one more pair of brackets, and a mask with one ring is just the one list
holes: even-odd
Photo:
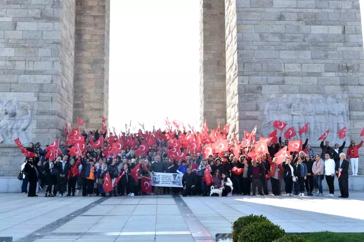
[(363, 192), (351, 192), (349, 199), (0, 194), (0, 204), (0, 237), (20, 242), (212, 242), (216, 233), (229, 233), (232, 222), (252, 213), (287, 232), (364, 232)]

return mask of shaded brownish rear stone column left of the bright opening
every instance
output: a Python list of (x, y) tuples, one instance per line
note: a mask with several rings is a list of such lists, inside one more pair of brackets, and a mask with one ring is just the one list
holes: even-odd
[(88, 129), (108, 116), (110, 0), (76, 0), (74, 118)]

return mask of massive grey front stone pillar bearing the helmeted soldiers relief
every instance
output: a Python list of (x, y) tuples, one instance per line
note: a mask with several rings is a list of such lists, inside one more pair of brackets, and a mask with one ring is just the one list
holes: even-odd
[(236, 135), (255, 124), (267, 135), (279, 119), (296, 132), (309, 123), (314, 146), (326, 130), (341, 144), (344, 126), (348, 139), (361, 139), (359, 1), (225, 0), (225, 9), (227, 121)]

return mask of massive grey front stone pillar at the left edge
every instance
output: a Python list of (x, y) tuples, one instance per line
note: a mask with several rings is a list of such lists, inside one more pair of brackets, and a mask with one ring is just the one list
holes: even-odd
[(1, 4), (0, 176), (8, 176), (24, 160), (13, 139), (49, 144), (72, 122), (75, 1)]

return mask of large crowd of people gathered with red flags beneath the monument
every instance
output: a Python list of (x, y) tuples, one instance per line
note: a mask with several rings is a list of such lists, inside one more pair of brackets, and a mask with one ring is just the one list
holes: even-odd
[[(120, 152), (108, 154), (112, 143), (116, 139), (106, 138), (106, 132), (99, 134), (98, 130), (87, 132), (83, 130), (82, 138), (87, 144), (86, 151), (80, 156), (69, 154), (70, 147), (65, 142), (59, 144), (59, 155), (55, 159), (46, 158), (47, 148), (43, 150), (40, 143), (29, 143), (26, 149), (34, 154), (26, 157), (21, 166), (20, 176), (23, 178), (21, 193), (28, 197), (35, 197), (37, 182), (39, 189), (44, 190), (44, 197), (78, 196), (105, 197), (107, 194), (103, 189), (104, 178), (107, 174), (115, 180), (120, 176), (114, 190), (108, 194), (112, 196), (138, 196), (146, 193), (141, 190), (141, 179), (143, 176), (152, 177), (154, 172), (183, 174), (182, 187), (153, 186), (152, 194), (181, 194), (183, 196), (207, 196), (213, 189), (221, 189), (222, 196), (237, 195), (282, 195), (281, 182), (285, 183), (286, 196), (316, 196), (324, 195), (322, 181), (325, 179), (329, 188), (327, 197), (334, 197), (334, 179), (338, 177), (341, 198), (347, 198), (348, 193), (348, 169), (350, 158), (353, 176), (357, 175), (358, 149), (364, 140), (357, 146), (352, 141), (347, 150), (343, 152), (345, 142), (335, 147), (329, 145), (329, 141), (321, 142), (321, 154), (315, 154), (308, 144), (308, 139), (302, 144), (302, 151), (290, 152), (284, 162), (278, 163), (274, 155), (282, 148), (288, 146), (289, 141), (282, 142), (279, 137), (278, 143), (268, 143), (268, 152), (257, 155), (254, 159), (247, 155), (254, 150), (254, 145), (241, 148), (237, 155), (230, 147), (227, 151), (216, 152), (206, 155), (203, 151), (193, 152), (189, 148), (178, 147), (181, 152), (186, 151), (185, 159), (177, 159), (170, 154), (171, 141), (160, 138), (165, 132), (153, 136), (155, 144), (140, 155), (136, 155), (142, 142), (150, 139), (149, 136), (134, 135), (132, 146), (125, 145)], [(148, 131), (145, 132), (148, 134)], [(176, 131), (173, 139), (179, 139), (186, 132)], [(110, 134), (112, 137), (112, 134)], [(222, 134), (227, 136), (227, 134)], [(92, 148), (91, 143), (103, 136), (103, 144), (100, 148)], [(123, 143), (126, 137), (123, 136)], [(164, 137), (164, 136), (162, 136)], [(119, 140), (120, 137), (118, 137)], [(91, 142), (90, 142), (91, 140)], [(154, 140), (153, 140), (154, 142)], [(324, 145), (325, 143), (325, 145)], [(74, 145), (74, 144), (73, 144)], [(46, 146), (47, 147), (47, 146)], [(304, 150), (304, 151), (303, 151)], [(188, 151), (188, 153), (187, 153)], [(49, 152), (49, 151), (48, 151)], [(142, 164), (145, 164), (142, 165)], [(195, 163), (197, 169), (193, 171)], [(139, 166), (138, 179), (135, 180), (130, 172)], [(146, 167), (146, 168), (144, 168)], [(209, 169), (212, 176), (211, 181), (206, 180), (205, 170)], [(240, 169), (240, 172), (236, 172)], [(268, 191), (268, 182), (272, 185), (272, 194)], [(28, 188), (29, 184), (29, 188)], [(28, 191), (27, 191), (28, 190)]]

